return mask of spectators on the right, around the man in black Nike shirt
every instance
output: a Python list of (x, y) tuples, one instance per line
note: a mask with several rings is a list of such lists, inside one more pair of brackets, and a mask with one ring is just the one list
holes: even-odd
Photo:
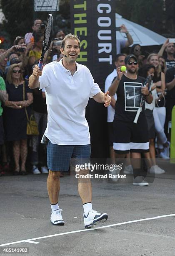
[[(128, 31), (125, 30), (125, 33)], [(120, 50), (122, 47), (120, 47)], [(114, 60), (115, 69), (105, 80), (105, 92), (109, 90), (113, 79), (117, 77), (117, 68), (125, 65), (125, 57), (128, 55), (128, 49), (124, 49)], [(145, 116), (148, 123), (150, 152), (145, 154), (145, 159), (151, 162), (154, 174), (163, 174), (165, 171), (156, 164), (156, 156), (162, 159), (170, 159), (170, 133), (172, 109), (175, 105), (175, 45), (165, 41), (159, 52), (147, 52), (143, 55), (142, 47), (134, 44), (130, 47), (130, 56), (134, 56), (138, 64), (138, 75), (141, 77), (152, 76), (151, 94), (153, 102), (145, 102)], [(117, 95), (112, 96), (111, 105), (107, 109), (108, 137), (110, 146), (110, 158), (115, 162), (115, 153), (113, 150), (112, 136), (115, 131), (112, 130), (114, 120), (115, 103)], [(130, 162), (130, 154), (127, 154), (127, 161), (124, 170), (125, 174), (133, 174), (133, 167)]]

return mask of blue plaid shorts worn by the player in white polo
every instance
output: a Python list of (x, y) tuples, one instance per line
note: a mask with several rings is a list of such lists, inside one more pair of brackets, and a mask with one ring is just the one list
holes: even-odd
[(47, 143), (47, 167), (51, 171), (67, 172), (70, 159), (77, 160), (76, 164), (90, 162), (90, 144), (88, 145), (57, 145)]

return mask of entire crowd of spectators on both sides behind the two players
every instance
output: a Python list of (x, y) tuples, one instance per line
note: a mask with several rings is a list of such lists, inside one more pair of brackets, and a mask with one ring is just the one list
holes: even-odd
[[(25, 175), (26, 161), (32, 166), (33, 174), (48, 173), (46, 149), (40, 144), (42, 134), (47, 125), (47, 108), (45, 92), (28, 87), (28, 78), (35, 64), (38, 64), (43, 41), (44, 24), (42, 20), (34, 20), (32, 32), (25, 36), (17, 36), (10, 49), (0, 49), (0, 174), (11, 171), (14, 175)], [(116, 68), (124, 65), (126, 47), (133, 44), (133, 38), (127, 28), (122, 25), (120, 32), (126, 34), (126, 40), (117, 41), (117, 56), (114, 61)], [(60, 61), (60, 44), (65, 33), (60, 30), (52, 38), (50, 49), (44, 57), (44, 64)], [(123, 50), (124, 49), (124, 50)], [(158, 53), (150, 53), (145, 57), (142, 47), (134, 44), (130, 54), (135, 55), (139, 63), (138, 74), (146, 77), (153, 76), (152, 94), (154, 103), (145, 108), (153, 112), (155, 134), (150, 134), (150, 154), (155, 159), (155, 147), (159, 157), (169, 159), (170, 136), (168, 124), (171, 121), (172, 108), (175, 105), (175, 45), (165, 41)], [(109, 74), (105, 90), (110, 86), (116, 69)], [(108, 123), (112, 123), (116, 95), (112, 97), (108, 108)], [(35, 115), (40, 131), (38, 136), (27, 136), (26, 111), (30, 116)], [(148, 120), (149, 122), (149, 120)], [(153, 130), (152, 130), (153, 131)], [(30, 153), (28, 154), (28, 148)], [(30, 157), (29, 157), (30, 155)], [(110, 140), (110, 156), (114, 158), (112, 141)], [(129, 157), (128, 157), (129, 159)], [(130, 162), (128, 162), (130, 166)]]

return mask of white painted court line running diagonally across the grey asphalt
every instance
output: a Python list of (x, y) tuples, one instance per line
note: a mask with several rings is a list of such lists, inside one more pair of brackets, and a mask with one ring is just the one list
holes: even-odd
[(72, 233), (79, 233), (79, 232), (84, 232), (84, 231), (93, 231), (93, 230), (97, 230), (97, 229), (100, 229), (100, 228), (110, 228), (110, 227), (124, 225), (124, 224), (128, 224), (128, 223), (135, 223), (135, 222), (140, 222), (140, 221), (145, 221), (145, 220), (155, 220), (155, 219), (171, 217), (171, 216), (175, 216), (175, 213), (169, 214), (169, 215), (160, 215), (160, 216), (156, 216), (156, 217), (153, 217), (153, 218), (146, 218), (146, 219), (140, 219), (140, 220), (130, 220), (130, 221), (126, 221), (126, 222), (121, 222), (121, 223), (116, 223), (116, 224), (112, 224), (112, 225), (102, 226), (102, 227), (99, 227), (99, 228), (81, 229), (81, 230), (75, 230), (75, 231), (59, 233), (59, 234), (54, 234), (54, 235), (49, 235), (49, 236), (41, 236), (41, 237), (36, 237), (36, 238), (31, 238), (31, 239), (25, 239), (25, 240), (11, 242), (11, 243), (4, 243), (4, 244), (0, 244), (0, 247), (1, 246), (7, 246), (7, 245), (10, 245), (10, 244), (23, 243), (23, 242), (32, 243), (33, 240), (38, 240), (38, 239), (43, 239), (43, 238), (48, 238), (48, 237), (62, 236), (62, 235), (67, 235), (67, 234), (72, 234)]

